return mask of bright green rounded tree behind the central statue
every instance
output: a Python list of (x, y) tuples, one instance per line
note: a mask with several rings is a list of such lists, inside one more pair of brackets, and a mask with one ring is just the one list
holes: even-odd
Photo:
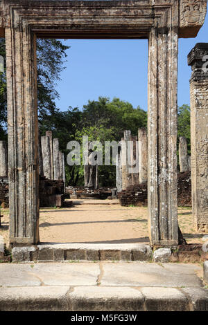
[[(88, 136), (90, 142), (98, 140), (104, 147), (105, 141), (119, 142), (125, 129), (131, 130), (132, 135), (137, 135), (139, 127), (146, 127), (147, 113), (139, 106), (134, 109), (132, 104), (119, 98), (115, 97), (110, 101), (107, 97), (99, 97), (98, 101), (89, 101), (83, 106), (82, 123), (83, 128), (76, 130), (75, 139), (81, 143), (83, 136)], [(100, 185), (115, 186), (116, 167), (110, 165), (98, 168)], [(79, 174), (83, 182), (82, 166), (80, 166)]]

